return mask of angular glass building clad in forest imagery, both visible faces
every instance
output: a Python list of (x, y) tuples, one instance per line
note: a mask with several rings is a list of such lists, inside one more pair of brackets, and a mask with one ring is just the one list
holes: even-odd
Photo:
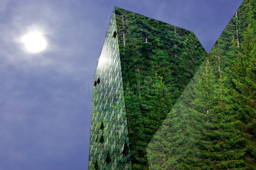
[(148, 169), (147, 145), (205, 54), (193, 32), (115, 7), (93, 79), (89, 169)]

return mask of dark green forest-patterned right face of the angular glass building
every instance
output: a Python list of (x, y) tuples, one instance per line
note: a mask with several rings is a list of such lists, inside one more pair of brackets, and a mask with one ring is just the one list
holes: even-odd
[(148, 169), (146, 148), (180, 97), (205, 50), (196, 36), (116, 8), (132, 167)]

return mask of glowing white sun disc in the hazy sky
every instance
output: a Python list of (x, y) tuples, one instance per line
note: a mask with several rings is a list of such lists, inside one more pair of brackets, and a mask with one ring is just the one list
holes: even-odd
[(22, 36), (21, 41), (25, 44), (26, 49), (33, 53), (43, 51), (47, 46), (46, 39), (40, 32), (30, 32)]

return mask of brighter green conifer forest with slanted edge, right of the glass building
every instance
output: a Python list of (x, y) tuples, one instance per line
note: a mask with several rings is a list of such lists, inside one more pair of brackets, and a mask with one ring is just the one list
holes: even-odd
[(255, 169), (254, 7), (244, 1), (148, 144), (152, 169)]

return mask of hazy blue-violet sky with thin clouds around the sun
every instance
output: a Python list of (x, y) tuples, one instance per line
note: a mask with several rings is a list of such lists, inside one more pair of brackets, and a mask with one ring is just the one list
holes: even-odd
[[(209, 52), (241, 3), (1, 0), (0, 170), (88, 169), (90, 87), (114, 6), (193, 31)], [(33, 30), (39, 53), (20, 40)]]

